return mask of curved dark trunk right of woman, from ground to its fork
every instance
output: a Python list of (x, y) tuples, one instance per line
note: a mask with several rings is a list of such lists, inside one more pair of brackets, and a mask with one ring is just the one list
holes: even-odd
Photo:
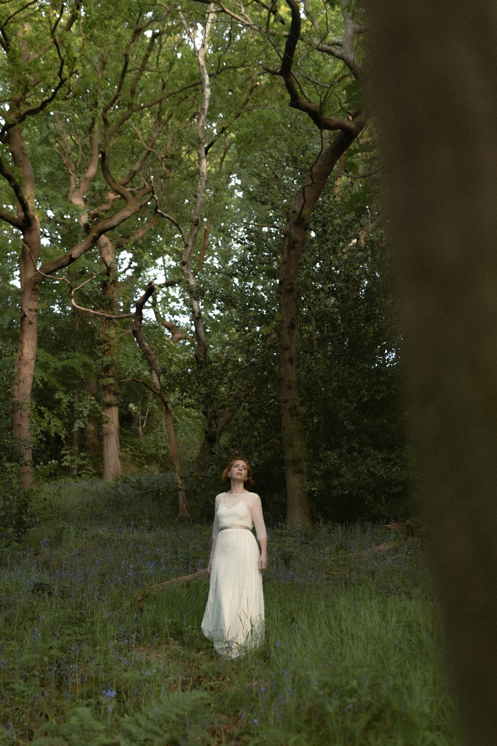
[(306, 446), (300, 414), (297, 379), (297, 329), (299, 307), (297, 275), (306, 240), (308, 222), (317, 200), (338, 158), (355, 140), (364, 120), (357, 120), (357, 131), (337, 134), (322, 151), (294, 198), (283, 238), (282, 262), (279, 266), (279, 360), (281, 385), (282, 440), (285, 457), (288, 527), (311, 524), (306, 490)]

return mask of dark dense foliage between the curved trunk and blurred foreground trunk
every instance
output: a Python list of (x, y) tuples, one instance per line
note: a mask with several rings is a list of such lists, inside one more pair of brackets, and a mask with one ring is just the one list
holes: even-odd
[(300, 386), (314, 510), (329, 520), (407, 518), (399, 333), (381, 231), (331, 194), (306, 246)]

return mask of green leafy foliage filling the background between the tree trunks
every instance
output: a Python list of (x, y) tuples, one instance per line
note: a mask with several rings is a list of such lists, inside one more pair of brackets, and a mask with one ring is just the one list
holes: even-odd
[[(250, 8), (255, 26), (268, 24), (269, 34), (256, 28), (240, 33), (238, 24), (221, 12), (212, 26), (207, 54), (212, 96), (204, 133), (208, 178), (193, 254), (209, 348), (206, 366), (195, 363), (180, 259), (181, 231), (189, 231), (196, 198), (194, 122), (201, 86), (176, 5), (126, 0), (112, 7), (59, 8), (36, 1), (15, 13), (15, 4), (4, 6), (12, 42), (0, 58), (4, 102), (19, 84), (22, 106), (31, 107), (22, 134), (36, 181), (42, 260), (77, 245), (104, 214), (124, 205), (118, 192), (109, 201), (110, 185), (101, 167), (85, 195), (75, 201), (70, 193), (89, 166), (92, 138), (98, 150), (107, 149), (113, 178), (124, 180), (132, 193), (153, 178), (159, 213), (149, 195), (139, 213), (108, 233), (116, 252), (109, 269), (115, 273), (115, 312), (132, 311), (150, 280), (178, 280), (177, 286), (159, 287), (157, 307), (164, 319), (183, 328), (186, 338), (171, 342), (150, 307), (144, 331), (174, 413), (194, 515), (210, 519), (212, 498), (222, 489), (218, 474), (227, 460), (244, 454), (253, 464), (254, 489), (267, 498), (268, 517), (282, 521), (278, 257), (288, 206), (328, 138), (302, 112), (288, 107), (281, 79), (268, 72), (281, 62), (288, 4), (276, 4), (269, 18), (264, 7)], [(361, 14), (355, 4), (348, 10), (354, 17)], [(182, 12), (191, 29), (205, 22), (202, 4), (186, 0)], [(42, 94), (60, 82), (60, 58), (50, 31), (57, 13), (62, 13), (58, 31), (65, 80), (54, 101), (39, 108)], [(318, 41), (343, 34), (341, 6), (311, 0), (301, 20), (294, 73), (302, 90), (325, 115), (348, 116), (362, 104), (361, 86), (341, 60), (314, 48)], [(360, 37), (357, 59), (364, 56)], [(19, 40), (33, 53), (29, 65), (22, 63)], [(10, 109), (4, 108), (5, 118)], [(106, 126), (110, 129), (104, 135)], [(138, 170), (126, 181), (133, 164)], [(7, 165), (16, 168), (11, 160)], [(315, 210), (301, 267), (297, 369), (314, 518), (390, 518), (410, 510), (398, 404), (399, 339), (390, 322), (388, 263), (373, 207), (378, 204), (378, 169), (375, 134), (368, 128), (340, 163), (338, 197), (324, 195)], [(4, 209), (15, 212), (5, 180), (0, 192)], [(209, 239), (205, 246), (203, 229)], [(8, 367), (18, 332), (18, 231), (10, 229), (0, 240), (5, 286), (0, 327), (2, 338), (12, 343)], [(150, 474), (143, 483), (147, 491), (156, 474), (171, 470), (171, 459), (161, 405), (143, 383), (151, 383), (151, 375), (133, 341), (132, 320), (116, 322), (115, 352), (111, 361), (105, 359), (101, 318), (76, 311), (68, 292), (69, 283), (77, 288), (75, 299), (82, 307), (109, 310), (98, 247), (63, 269), (63, 275), (66, 282), (46, 278), (40, 286), (31, 407), (37, 478), (48, 483), (81, 478), (86, 484), (101, 473), (98, 437), (104, 374), (111, 362), (124, 473), (133, 478)], [(9, 404), (8, 394), (4, 402)], [(227, 415), (229, 424), (203, 465), (208, 471), (199, 475), (194, 467), (208, 407), (218, 419)], [(4, 432), (9, 416), (6, 406)]]

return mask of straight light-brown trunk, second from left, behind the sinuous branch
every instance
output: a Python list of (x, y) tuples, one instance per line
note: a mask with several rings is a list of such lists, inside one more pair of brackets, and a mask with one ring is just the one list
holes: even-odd
[[(117, 314), (115, 289), (115, 249), (107, 236), (98, 239), (101, 260), (107, 269), (103, 293), (107, 313)], [(117, 404), (116, 322), (113, 319), (102, 319), (101, 337), (104, 345), (102, 392), (102, 457), (104, 480), (120, 477), (122, 474), (121, 448), (119, 445), (119, 412)]]

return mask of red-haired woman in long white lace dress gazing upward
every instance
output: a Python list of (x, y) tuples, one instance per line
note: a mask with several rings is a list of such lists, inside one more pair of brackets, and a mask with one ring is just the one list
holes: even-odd
[[(230, 658), (256, 648), (264, 636), (262, 570), (268, 566), (268, 539), (250, 465), (235, 459), (223, 472), (230, 483), (215, 498), (214, 528), (207, 572), (209, 598), (202, 632), (218, 653)], [(251, 529), (256, 527), (261, 554)]]

